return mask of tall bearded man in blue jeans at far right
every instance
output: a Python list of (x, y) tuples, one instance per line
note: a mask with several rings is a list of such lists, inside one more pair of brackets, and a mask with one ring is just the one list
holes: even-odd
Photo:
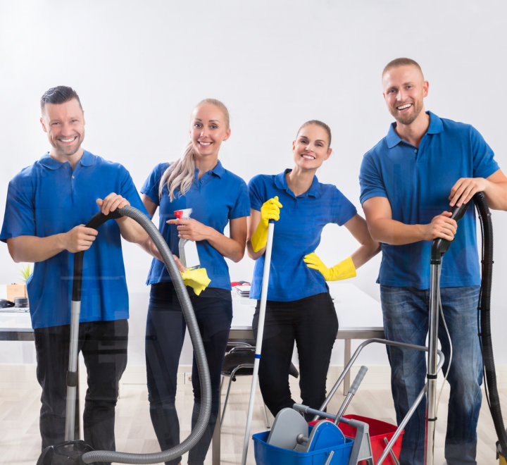
[[(484, 192), (492, 209), (507, 209), (507, 178), (492, 149), (471, 125), (425, 111), (428, 82), (415, 61), (397, 58), (382, 73), (384, 99), (396, 122), (361, 165), (361, 204), (374, 240), (382, 243), (380, 283), (387, 339), (425, 345), (432, 240), (453, 240), (442, 261), (439, 335), (451, 385), (445, 444), (448, 464), (475, 464), (482, 359), (477, 337), (480, 268), (475, 213), (459, 225), (449, 207)], [(452, 360), (451, 360), (452, 347)], [(423, 389), (423, 352), (389, 347), (392, 392), (400, 422)], [(423, 464), (425, 405), (408, 422), (400, 463)]]

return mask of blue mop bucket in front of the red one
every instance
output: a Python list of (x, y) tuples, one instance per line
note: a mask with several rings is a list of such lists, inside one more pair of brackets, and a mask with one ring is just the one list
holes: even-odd
[[(308, 436), (313, 426), (308, 426)], [(345, 443), (318, 449), (312, 452), (296, 452), (268, 444), (269, 431), (257, 433), (253, 438), (253, 452), (257, 465), (323, 465), (334, 452), (330, 465), (347, 465), (352, 450), (353, 439), (345, 438)]]

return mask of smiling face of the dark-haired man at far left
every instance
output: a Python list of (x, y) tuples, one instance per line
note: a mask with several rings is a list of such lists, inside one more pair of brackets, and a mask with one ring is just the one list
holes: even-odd
[(84, 113), (77, 99), (45, 104), (40, 121), (52, 147), (49, 154), (61, 162), (77, 162), (84, 139)]

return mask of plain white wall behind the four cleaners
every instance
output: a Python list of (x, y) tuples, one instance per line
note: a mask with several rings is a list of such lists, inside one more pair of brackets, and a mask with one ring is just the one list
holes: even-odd
[[(500, 0), (0, 0), (0, 216), (8, 180), (48, 148), (39, 98), (61, 84), (80, 94), (84, 147), (123, 163), (138, 187), (156, 163), (180, 154), (189, 114), (205, 97), (230, 109), (220, 159), (245, 180), (291, 166), (296, 129), (322, 119), (334, 151), (318, 176), (361, 211), (361, 158), (392, 120), (380, 73), (410, 56), (430, 81), (427, 109), (475, 125), (506, 170), (505, 17)], [(503, 237), (507, 215), (493, 221)], [(493, 337), (497, 361), (507, 363), (507, 244), (495, 246)], [(334, 263), (353, 247), (330, 226), (318, 253)], [(6, 246), (0, 260), (0, 283), (17, 280)], [(130, 290), (147, 295), (148, 257), (126, 244), (125, 262)], [(356, 278), (375, 298), (379, 262)], [(251, 270), (248, 258), (232, 264), (232, 279), (249, 280)]]

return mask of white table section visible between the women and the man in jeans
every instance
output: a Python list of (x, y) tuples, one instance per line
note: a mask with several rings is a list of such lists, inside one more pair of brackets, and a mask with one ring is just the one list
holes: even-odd
[[(339, 329), (337, 339), (344, 340), (344, 366), (351, 358), (351, 340), (384, 337), (382, 309), (380, 302), (347, 281), (327, 283), (338, 316)], [(255, 312), (256, 300), (232, 297), (232, 325), (229, 340), (254, 340), (251, 321)], [(344, 394), (350, 387), (350, 372), (344, 378)], [(220, 465), (220, 413), (213, 433), (212, 463)]]

